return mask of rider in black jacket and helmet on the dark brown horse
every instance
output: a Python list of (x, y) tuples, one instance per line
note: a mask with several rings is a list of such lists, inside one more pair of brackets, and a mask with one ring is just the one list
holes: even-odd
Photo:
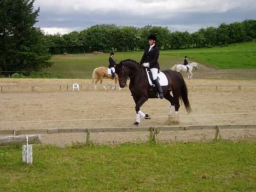
[(162, 87), (158, 81), (158, 71), (160, 69), (159, 63), (158, 63), (159, 47), (155, 45), (155, 42), (156, 42), (156, 36), (154, 34), (150, 34), (148, 37), (149, 47), (145, 49), (141, 62), (139, 63), (142, 66), (148, 67), (150, 69), (153, 77), (153, 83), (158, 89), (159, 97), (164, 98)]

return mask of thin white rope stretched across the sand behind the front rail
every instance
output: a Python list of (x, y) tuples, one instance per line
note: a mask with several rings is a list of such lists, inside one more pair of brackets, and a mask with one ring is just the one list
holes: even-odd
[[(200, 116), (211, 116), (211, 115), (238, 115), (238, 114), (256, 114), (256, 112), (213, 113), (213, 114), (195, 114), (195, 115), (165, 115), (165, 116), (153, 116), (153, 117), (150, 117), (150, 118), (200, 117)], [(43, 122), (64, 122), (64, 121), (119, 120), (119, 119), (136, 119), (136, 118), (135, 118), (135, 117), (125, 117), (125, 118), (65, 119), (65, 120), (36, 120), (36, 121), (0, 121), (0, 124), (12, 124), (12, 123), (43, 123)]]

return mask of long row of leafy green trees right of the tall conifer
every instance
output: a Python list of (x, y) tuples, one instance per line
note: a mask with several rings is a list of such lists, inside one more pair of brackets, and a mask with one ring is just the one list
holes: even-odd
[(256, 38), (256, 20), (247, 19), (218, 27), (206, 27), (189, 33), (170, 31), (167, 27), (95, 25), (67, 34), (45, 34), (44, 43), (51, 54), (90, 53), (92, 51), (135, 51), (144, 49), (150, 33), (158, 37), (161, 49), (211, 47), (245, 42)]

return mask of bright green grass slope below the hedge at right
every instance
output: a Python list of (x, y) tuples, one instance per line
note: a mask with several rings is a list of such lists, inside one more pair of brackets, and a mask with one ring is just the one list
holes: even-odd
[(256, 42), (235, 43), (213, 48), (162, 51), (172, 56), (187, 55), (189, 60), (218, 69), (256, 68)]

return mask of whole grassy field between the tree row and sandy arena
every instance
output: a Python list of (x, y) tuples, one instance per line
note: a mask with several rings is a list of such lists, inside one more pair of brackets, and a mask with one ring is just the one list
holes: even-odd
[[(125, 59), (140, 61), (143, 51), (115, 53), (115, 61)], [(160, 52), (161, 69), (170, 69), (183, 63), (184, 56), (216, 69), (256, 68), (256, 41), (236, 43), (213, 48), (163, 50)], [(50, 78), (91, 78), (91, 72), (99, 66), (108, 66), (108, 53), (54, 55), (54, 65), (43, 71), (51, 72)], [(53, 73), (62, 72), (62, 73)], [(47, 75), (46, 75), (47, 77)]]

